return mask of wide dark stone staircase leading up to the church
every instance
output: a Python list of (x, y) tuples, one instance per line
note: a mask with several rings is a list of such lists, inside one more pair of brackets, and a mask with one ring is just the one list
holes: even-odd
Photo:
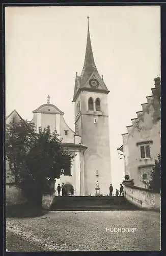
[(140, 208), (129, 203), (124, 197), (73, 196), (54, 197), (50, 210), (140, 210)]

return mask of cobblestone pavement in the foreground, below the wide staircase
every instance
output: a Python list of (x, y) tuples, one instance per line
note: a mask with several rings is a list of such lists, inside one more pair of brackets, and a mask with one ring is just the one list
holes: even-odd
[[(160, 250), (160, 214), (154, 211), (54, 211), (8, 218), (6, 229), (44, 251)], [(9, 233), (6, 239), (11, 244)]]

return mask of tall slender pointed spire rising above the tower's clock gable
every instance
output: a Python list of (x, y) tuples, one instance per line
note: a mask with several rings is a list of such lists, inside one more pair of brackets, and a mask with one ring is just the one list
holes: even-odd
[(84, 75), (85, 69), (88, 71), (93, 70), (96, 68), (93, 52), (92, 52), (92, 45), (91, 45), (91, 38), (90, 38), (90, 32), (89, 32), (89, 16), (88, 18), (88, 34), (87, 34), (87, 47), (86, 47), (86, 54), (85, 54), (85, 61), (84, 61), (84, 68), (82, 70), (82, 75)]

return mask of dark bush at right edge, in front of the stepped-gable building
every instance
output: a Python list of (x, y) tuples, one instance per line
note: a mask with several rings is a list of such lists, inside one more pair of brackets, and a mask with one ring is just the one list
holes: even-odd
[(160, 193), (161, 190), (161, 155), (158, 155), (158, 159), (155, 159), (155, 165), (151, 173), (152, 180), (149, 182), (149, 188), (156, 193)]

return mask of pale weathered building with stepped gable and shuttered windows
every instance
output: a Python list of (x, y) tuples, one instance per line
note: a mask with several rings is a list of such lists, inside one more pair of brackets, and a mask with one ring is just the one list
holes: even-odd
[(125, 175), (133, 179), (134, 186), (146, 187), (151, 180), (151, 171), (160, 154), (160, 77), (154, 79), (155, 87), (147, 102), (142, 104), (142, 111), (131, 119), (127, 133), (122, 134), (123, 145), (118, 148), (124, 155)]

